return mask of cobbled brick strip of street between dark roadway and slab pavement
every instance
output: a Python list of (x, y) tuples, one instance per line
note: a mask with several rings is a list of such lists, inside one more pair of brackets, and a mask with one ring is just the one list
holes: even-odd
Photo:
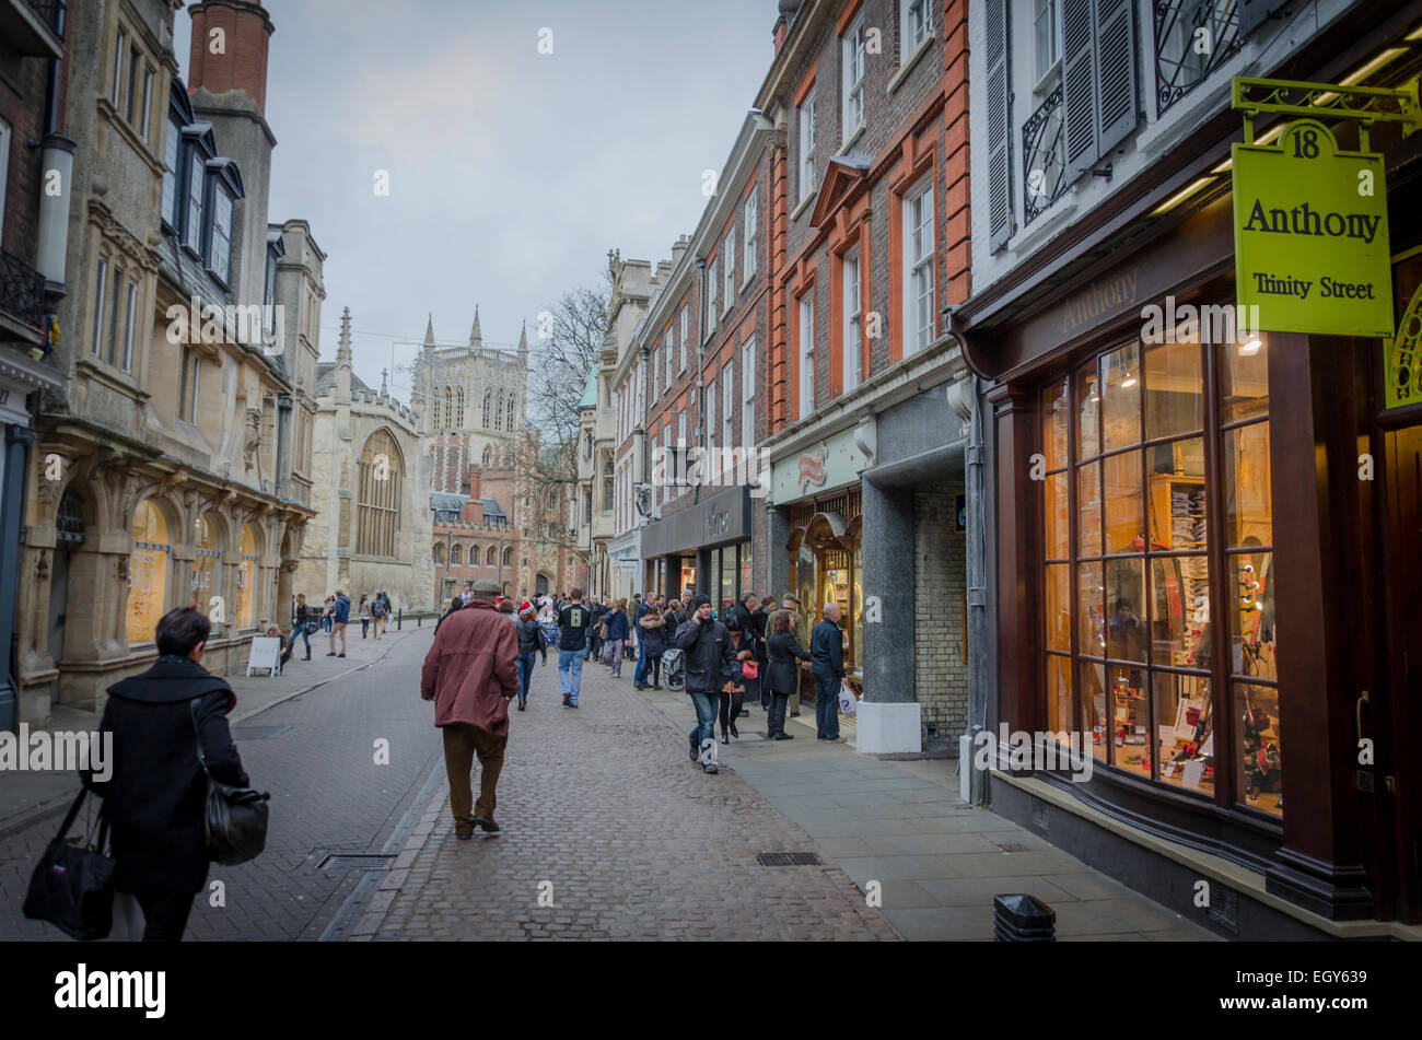
[(535, 666), (495, 816), (503, 834), (456, 841), (441, 786), (350, 939), (899, 938), (838, 867), (761, 867), (816, 843), (596, 665), (577, 709)]

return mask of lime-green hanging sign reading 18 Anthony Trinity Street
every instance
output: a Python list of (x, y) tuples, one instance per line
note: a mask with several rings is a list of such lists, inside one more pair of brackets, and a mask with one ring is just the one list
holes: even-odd
[(1231, 153), (1239, 305), (1278, 332), (1392, 335), (1382, 156), (1314, 119)]

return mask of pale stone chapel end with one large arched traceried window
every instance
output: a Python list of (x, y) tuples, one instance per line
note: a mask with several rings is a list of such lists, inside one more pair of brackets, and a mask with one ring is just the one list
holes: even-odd
[(360, 602), (384, 591), (392, 607), (432, 610), (431, 459), (419, 415), (351, 371), (350, 308), (334, 364), (316, 369), (310, 524), (293, 591), (320, 604), (337, 590)]

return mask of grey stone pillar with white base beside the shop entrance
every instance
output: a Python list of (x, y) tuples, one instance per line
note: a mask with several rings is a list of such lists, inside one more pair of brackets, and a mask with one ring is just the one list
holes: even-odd
[[(859, 553), (863, 565), (865, 646), (860, 665), (865, 695), (859, 702), (859, 750), (923, 750), (919, 702), (914, 698), (914, 655), (912, 638), (902, 624), (869, 617), (912, 619), (913, 595), (913, 493), (883, 489), (865, 480), (863, 536)], [(875, 604), (877, 602), (877, 611)], [(944, 610), (946, 604), (930, 604)]]

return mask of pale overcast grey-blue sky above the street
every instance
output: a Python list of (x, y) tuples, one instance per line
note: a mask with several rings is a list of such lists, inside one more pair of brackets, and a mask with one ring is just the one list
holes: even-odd
[[(775, 0), (266, 0), (270, 219), (326, 260), (321, 359), (351, 308), (356, 371), (391, 344), (518, 341), (607, 250), (670, 254), (701, 216), (772, 57)], [(188, 72), (192, 21), (176, 16)], [(552, 54), (539, 53), (552, 30)], [(219, 149), (222, 142), (218, 142)], [(375, 173), (390, 175), (388, 197)], [(397, 348), (408, 364), (415, 348)], [(400, 357), (402, 354), (402, 357)], [(392, 389), (408, 399), (410, 377)]]

